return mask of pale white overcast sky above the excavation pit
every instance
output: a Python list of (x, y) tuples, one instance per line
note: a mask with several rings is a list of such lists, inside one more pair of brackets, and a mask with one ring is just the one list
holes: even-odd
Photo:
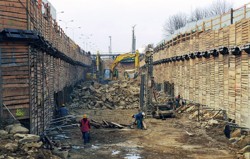
[[(240, 7), (250, 0), (226, 0)], [(157, 44), (164, 38), (163, 25), (169, 15), (190, 13), (196, 7), (205, 7), (211, 0), (50, 0), (56, 8), (57, 19), (67, 34), (81, 47), (108, 52), (112, 36), (113, 52), (129, 52), (132, 45), (132, 26), (136, 24), (137, 48)], [(64, 13), (59, 13), (64, 11)], [(81, 29), (77, 28), (81, 27)], [(90, 44), (91, 43), (91, 44)]]

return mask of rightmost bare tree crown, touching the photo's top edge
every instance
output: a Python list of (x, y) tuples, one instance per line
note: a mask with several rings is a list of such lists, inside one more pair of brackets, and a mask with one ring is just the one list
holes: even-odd
[(211, 4), (211, 6), (208, 8), (209, 15), (214, 16), (214, 15), (224, 14), (224, 13), (228, 12), (232, 7), (233, 7), (233, 4), (229, 3), (228, 1), (215, 0)]

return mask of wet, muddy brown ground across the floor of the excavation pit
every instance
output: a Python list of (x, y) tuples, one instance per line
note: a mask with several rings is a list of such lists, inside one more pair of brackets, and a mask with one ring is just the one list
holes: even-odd
[[(83, 113), (96, 121), (114, 121), (121, 124), (133, 122), (129, 110), (83, 110), (74, 109), (72, 113), (79, 117)], [(145, 120), (147, 130), (139, 129), (91, 129), (91, 143), (83, 145), (78, 127), (64, 129), (70, 139), (62, 142), (73, 147), (69, 158), (74, 159), (233, 159), (236, 150), (219, 129), (205, 130), (200, 123), (188, 119), (182, 114), (177, 118)]]

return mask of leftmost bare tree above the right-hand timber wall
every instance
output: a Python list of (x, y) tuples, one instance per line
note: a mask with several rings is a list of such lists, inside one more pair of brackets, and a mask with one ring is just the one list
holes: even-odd
[(173, 34), (175, 30), (184, 27), (187, 24), (187, 16), (183, 13), (177, 13), (168, 18), (164, 25), (164, 30), (168, 34)]

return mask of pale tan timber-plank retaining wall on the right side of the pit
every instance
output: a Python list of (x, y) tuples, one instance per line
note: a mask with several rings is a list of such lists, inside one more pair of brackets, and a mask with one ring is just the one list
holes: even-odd
[[(250, 12), (246, 6), (234, 11), (237, 14), (232, 17), (241, 18), (233, 24), (222, 27), (221, 22), (215, 24), (220, 27), (213, 28), (208, 23), (213, 24), (214, 20), (204, 22), (158, 45), (153, 57), (157, 83), (169, 82), (174, 85), (175, 96), (180, 94), (184, 99), (226, 110), (229, 118), (250, 128), (250, 49), (247, 45)], [(219, 49), (223, 47), (228, 52)]]

